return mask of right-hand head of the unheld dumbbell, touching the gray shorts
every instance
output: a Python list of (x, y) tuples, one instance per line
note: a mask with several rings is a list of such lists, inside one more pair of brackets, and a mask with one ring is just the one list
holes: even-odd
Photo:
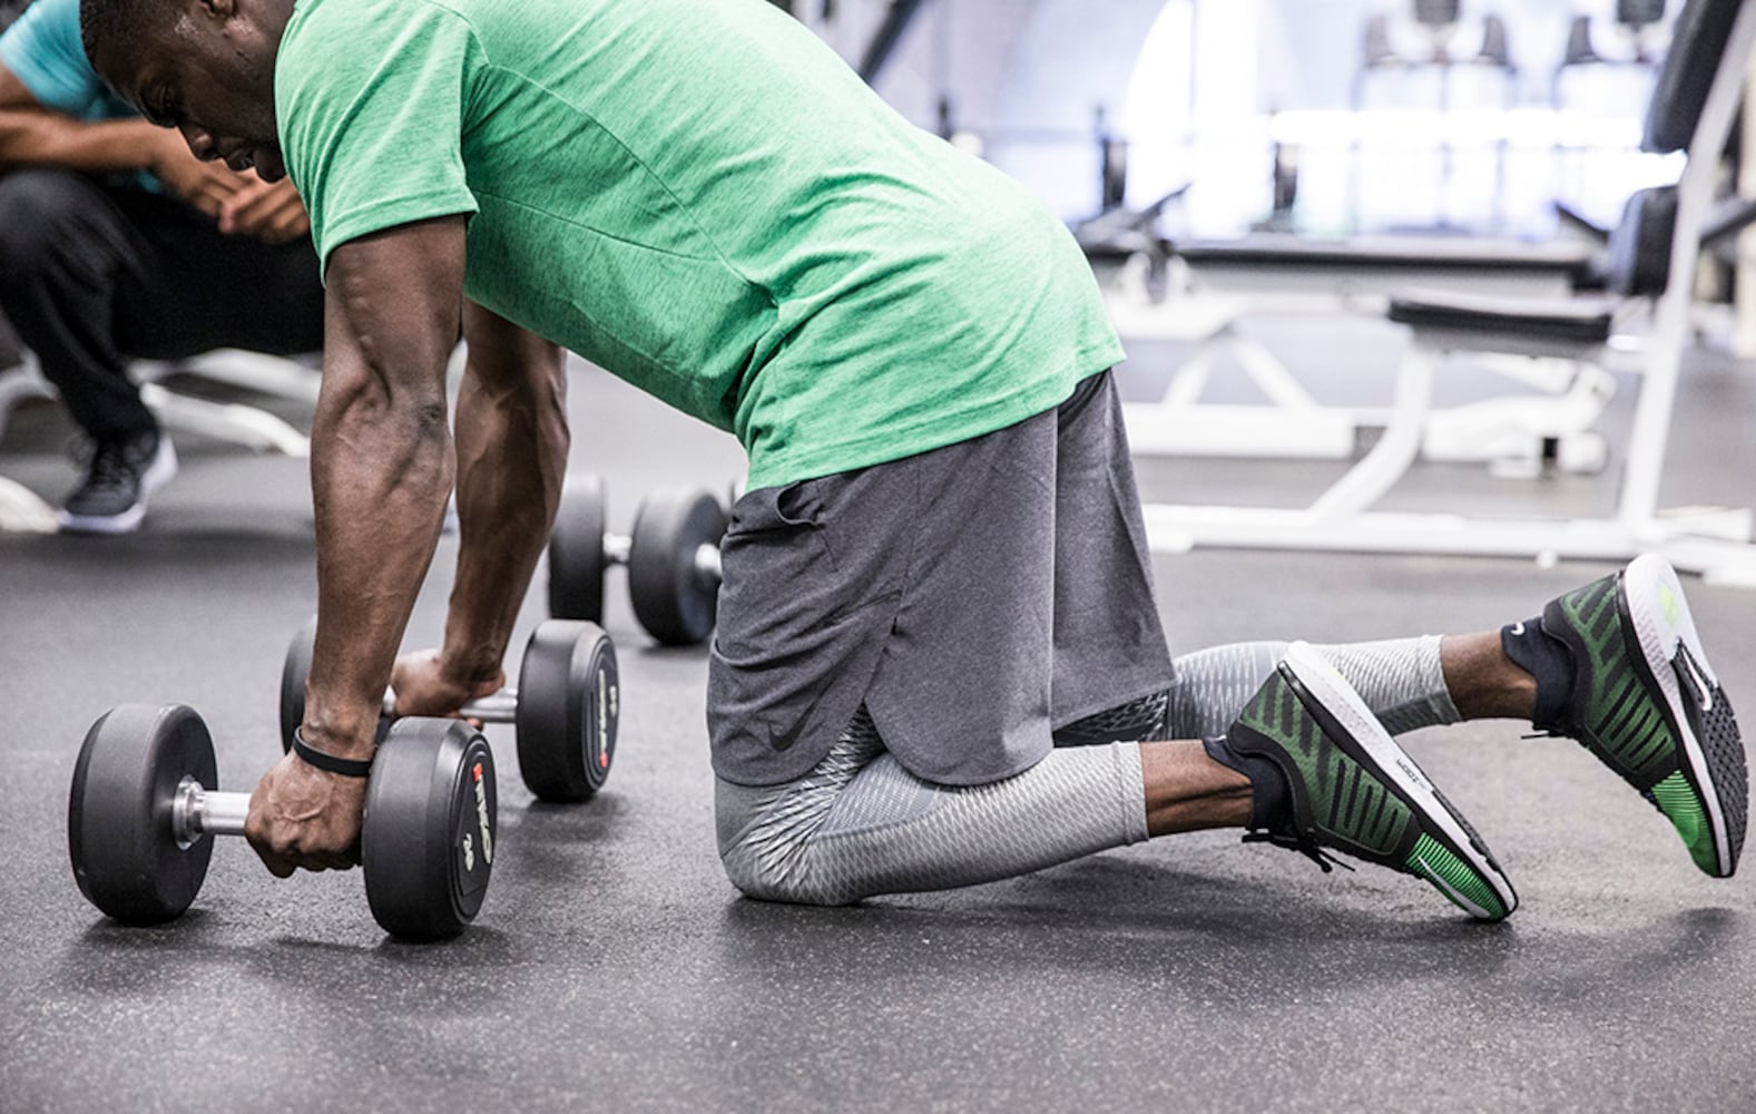
[(695, 487), (653, 492), (634, 520), (629, 592), (634, 617), (667, 647), (688, 647), (713, 633), (718, 580), (695, 569), (695, 552), (725, 536), (725, 508)]

